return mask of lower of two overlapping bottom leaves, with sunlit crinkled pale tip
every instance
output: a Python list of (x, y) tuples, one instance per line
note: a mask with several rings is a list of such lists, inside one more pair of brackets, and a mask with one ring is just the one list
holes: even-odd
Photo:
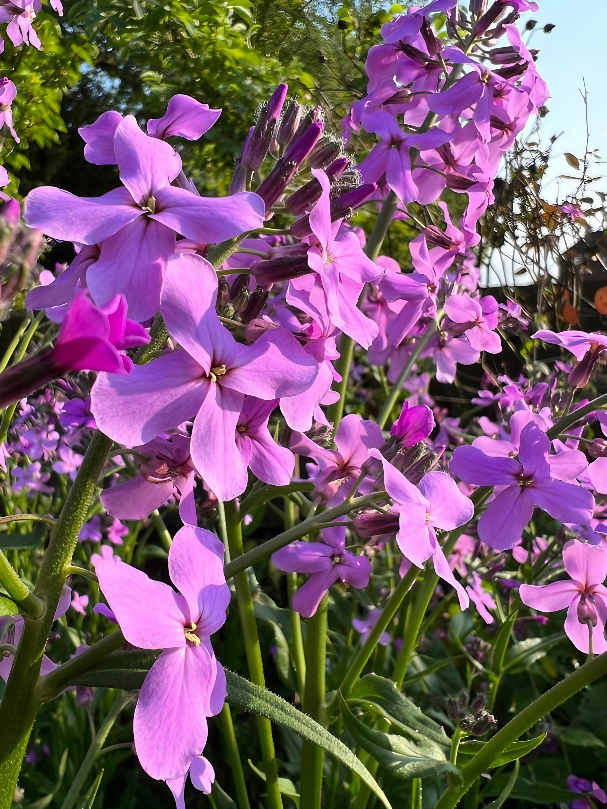
[(447, 760), (439, 744), (423, 737), (414, 742), (402, 736), (375, 731), (352, 714), (342, 693), (338, 696), (346, 731), (393, 776), (409, 780), (450, 773), (458, 781), (463, 780), (460, 770)]

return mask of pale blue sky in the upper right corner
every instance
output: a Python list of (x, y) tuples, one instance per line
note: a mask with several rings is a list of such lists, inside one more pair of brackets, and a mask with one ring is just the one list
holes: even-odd
[[(529, 47), (540, 49), (537, 68), (550, 88), (546, 102), (550, 113), (542, 125), (542, 138), (562, 132), (555, 145), (550, 177), (575, 174), (567, 166), (563, 152), (581, 159), (586, 145), (584, 101), (579, 95), (583, 78), (588, 90), (588, 121), (591, 149), (601, 152), (607, 160), (607, 105), (605, 104), (605, 28), (607, 0), (538, 0), (539, 11), (524, 15), (537, 19), (537, 28), (554, 23), (550, 34), (533, 34)], [(525, 37), (526, 39), (526, 37)], [(607, 175), (607, 164), (599, 167)], [(596, 176), (596, 172), (594, 173)], [(591, 188), (607, 190), (607, 180)], [(546, 189), (547, 190), (547, 189)], [(550, 194), (556, 195), (556, 180), (550, 183)]]

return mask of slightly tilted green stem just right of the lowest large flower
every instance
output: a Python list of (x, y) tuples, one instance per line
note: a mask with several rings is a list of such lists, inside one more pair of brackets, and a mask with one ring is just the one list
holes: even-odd
[[(243, 555), (242, 529), (240, 515), (236, 501), (231, 500), (225, 505), (227, 542), (230, 547), (231, 558)], [(233, 564), (233, 562), (232, 562)], [(265, 688), (265, 676), (261, 661), (261, 646), (257, 634), (257, 623), (253, 612), (253, 598), (248, 589), (246, 570), (240, 570), (234, 576), (236, 586), (236, 600), (240, 613), (240, 624), (244, 635), (244, 650), (247, 655), (248, 675), (251, 681)], [(261, 756), (264, 762), (266, 786), (268, 788), (268, 802), (271, 809), (282, 809), (282, 796), (278, 789), (278, 765), (274, 754), (274, 739), (272, 739), (272, 724), (265, 716), (257, 716), (257, 731), (261, 743)]]

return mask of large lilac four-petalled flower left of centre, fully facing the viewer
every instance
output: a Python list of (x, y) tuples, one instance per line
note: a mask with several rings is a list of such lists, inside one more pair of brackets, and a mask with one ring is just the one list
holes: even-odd
[(287, 329), (237, 343), (215, 313), (217, 275), (201, 256), (169, 261), (160, 302), (168, 332), (182, 350), (135, 366), (126, 377), (100, 374), (91, 397), (100, 430), (126, 447), (194, 420), (193, 465), (218, 498), (242, 493), (236, 428), (244, 395), (274, 400), (308, 388), (318, 364)]

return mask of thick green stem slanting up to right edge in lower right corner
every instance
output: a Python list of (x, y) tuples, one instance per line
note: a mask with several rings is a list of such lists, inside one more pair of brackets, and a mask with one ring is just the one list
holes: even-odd
[(463, 785), (450, 786), (439, 799), (436, 809), (454, 809), (461, 796), (469, 790), (474, 781), (485, 773), (495, 759), (516, 739), (533, 727), (546, 714), (550, 714), (558, 705), (567, 701), (574, 694), (586, 688), (589, 684), (607, 674), (607, 652), (573, 671), (560, 683), (550, 688), (531, 705), (522, 710), (518, 716), (503, 726), (492, 739), (490, 739), (473, 760), (463, 769)]

